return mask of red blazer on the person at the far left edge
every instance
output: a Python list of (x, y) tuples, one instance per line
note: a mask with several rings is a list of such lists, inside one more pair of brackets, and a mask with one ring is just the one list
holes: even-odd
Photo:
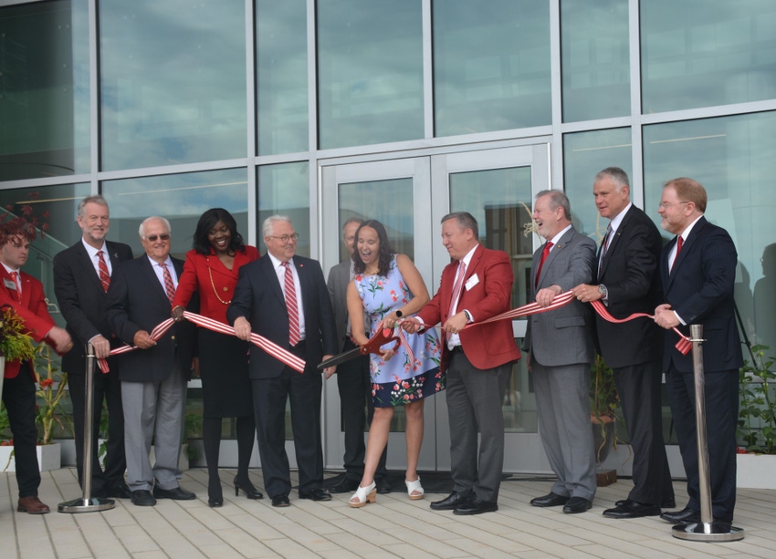
[[(5, 266), (0, 265), (0, 306), (10, 305), (25, 321), (26, 334), (32, 336), (36, 342), (43, 341), (44, 336), (54, 326), (54, 320), (48, 314), (48, 305), (46, 297), (43, 295), (43, 284), (33, 276), (20, 272), (20, 282), (22, 284), (22, 302), (19, 303), (16, 285), (11, 275), (5, 272)], [(21, 361), (5, 362), (5, 378), (16, 378), (19, 374)], [(32, 371), (32, 366), (30, 366)], [(33, 373), (35, 375), (35, 373)]]

